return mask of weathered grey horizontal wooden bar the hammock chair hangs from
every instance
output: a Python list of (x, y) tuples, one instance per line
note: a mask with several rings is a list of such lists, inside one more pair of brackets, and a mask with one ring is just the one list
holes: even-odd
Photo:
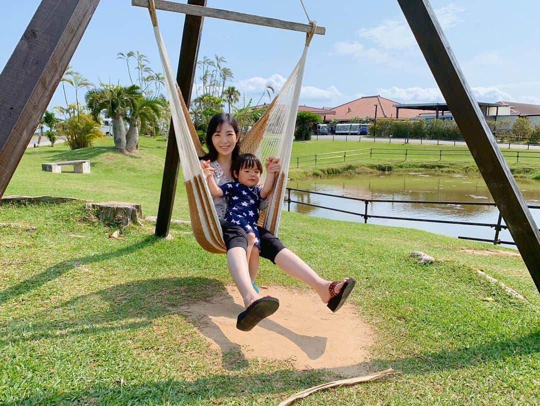
[[(236, 11), (228, 11), (221, 9), (212, 9), (210, 7), (198, 6), (190, 4), (182, 4), (175, 2), (167, 2), (164, 0), (155, 0), (156, 10), (173, 11), (184, 13), (191, 16), (219, 18), (229, 21), (237, 21), (239, 23), (264, 25), (267, 27), (280, 28), (283, 30), (311, 32), (311, 25), (285, 21), (276, 18), (268, 18), (262, 16), (254, 16)], [(131, 4), (139, 7), (148, 8), (149, 0), (131, 0)], [(317, 26), (315, 33), (325, 35), (326, 28)]]

